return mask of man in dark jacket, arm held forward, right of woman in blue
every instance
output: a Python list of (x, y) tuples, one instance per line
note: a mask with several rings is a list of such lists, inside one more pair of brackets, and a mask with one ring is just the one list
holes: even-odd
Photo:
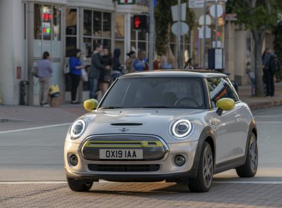
[(100, 78), (100, 73), (103, 70), (110, 70), (111, 67), (109, 65), (104, 66), (100, 62), (101, 55), (100, 53), (103, 51), (103, 45), (102, 44), (96, 44), (94, 46), (94, 52), (91, 55), (91, 67), (88, 74), (89, 78), (89, 98), (97, 98), (95, 96), (95, 92), (98, 88), (98, 81)]

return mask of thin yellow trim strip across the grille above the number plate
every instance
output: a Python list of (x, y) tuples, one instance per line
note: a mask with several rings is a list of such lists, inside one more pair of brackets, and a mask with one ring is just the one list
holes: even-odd
[[(146, 145), (148, 142), (148, 145)], [(163, 147), (161, 141), (87, 141), (85, 147), (89, 148), (150, 148), (150, 147)], [(104, 144), (104, 145), (103, 145)], [(109, 145), (105, 145), (109, 144)], [(129, 145), (111, 145), (111, 144), (129, 144)]]

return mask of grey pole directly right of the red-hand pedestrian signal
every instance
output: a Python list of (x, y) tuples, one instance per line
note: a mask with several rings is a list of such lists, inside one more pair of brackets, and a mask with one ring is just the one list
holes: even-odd
[(153, 69), (153, 61), (154, 61), (154, 33), (155, 33), (155, 27), (154, 27), (154, 1), (150, 1), (150, 33), (149, 33), (149, 70)]

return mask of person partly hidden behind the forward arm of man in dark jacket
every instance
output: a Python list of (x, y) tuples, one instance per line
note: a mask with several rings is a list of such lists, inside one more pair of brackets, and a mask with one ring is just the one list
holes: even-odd
[[(107, 46), (103, 49), (104, 55), (100, 57), (101, 64), (103, 64), (105, 67), (112, 66), (112, 55), (109, 52), (109, 48)], [(103, 69), (100, 73), (100, 91), (101, 91), (101, 97), (105, 95), (107, 92), (107, 89), (109, 88), (109, 83), (111, 83), (111, 69)]]

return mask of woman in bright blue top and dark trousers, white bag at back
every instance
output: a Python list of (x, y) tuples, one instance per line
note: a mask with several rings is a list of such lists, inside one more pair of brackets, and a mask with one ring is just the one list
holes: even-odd
[(86, 65), (82, 64), (80, 56), (80, 49), (76, 49), (73, 51), (71, 58), (69, 58), (69, 67), (71, 69), (71, 104), (79, 104), (78, 100), (76, 99), (76, 93), (80, 83), (81, 69), (85, 69), (86, 67)]

